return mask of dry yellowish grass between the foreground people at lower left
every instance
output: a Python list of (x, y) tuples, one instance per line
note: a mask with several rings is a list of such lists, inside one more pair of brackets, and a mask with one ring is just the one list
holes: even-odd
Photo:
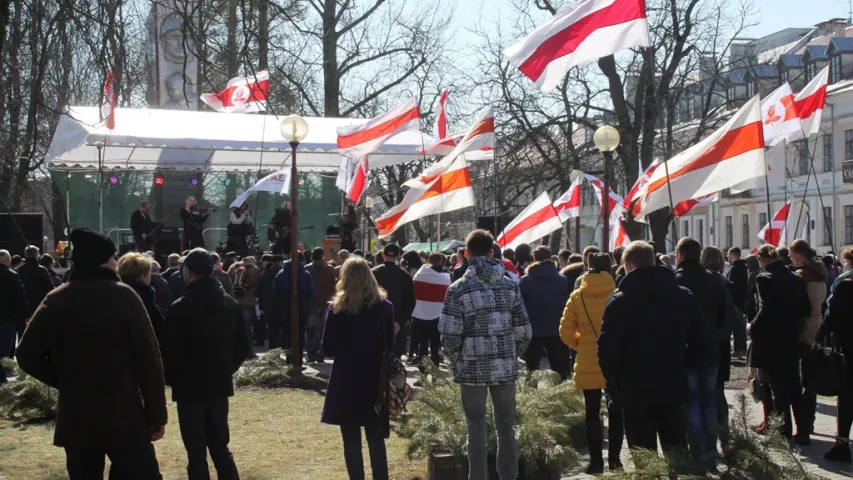
[[(171, 396), (171, 392), (167, 391)], [(323, 396), (303, 390), (241, 390), (231, 399), (231, 451), (243, 479), (346, 479), (338, 427), (320, 423)], [(426, 461), (409, 460), (407, 441), (387, 441), (392, 479), (426, 477)], [(186, 478), (178, 414), (169, 402), (166, 436), (154, 444), (165, 479)], [(370, 461), (365, 444), (365, 473)], [(0, 479), (61, 479), (65, 454), (53, 446), (53, 424), (23, 429), (0, 420)], [(211, 464), (211, 473), (214, 473)]]

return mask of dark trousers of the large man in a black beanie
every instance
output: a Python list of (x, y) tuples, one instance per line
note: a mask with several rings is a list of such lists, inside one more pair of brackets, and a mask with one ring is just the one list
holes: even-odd
[(104, 456), (110, 457), (110, 480), (162, 479), (154, 445), (110, 449), (65, 448), (65, 466), (70, 480), (104, 478)]

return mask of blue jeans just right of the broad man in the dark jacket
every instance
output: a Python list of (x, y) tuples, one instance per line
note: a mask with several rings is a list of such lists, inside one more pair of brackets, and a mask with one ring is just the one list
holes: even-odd
[(687, 443), (695, 460), (717, 454), (717, 366), (687, 374)]

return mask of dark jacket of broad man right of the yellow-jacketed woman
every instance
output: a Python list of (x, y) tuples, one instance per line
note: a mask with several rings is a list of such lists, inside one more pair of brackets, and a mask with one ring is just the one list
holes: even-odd
[(669, 267), (625, 275), (604, 308), (598, 362), (616, 406), (683, 405), (687, 368), (707, 355), (708, 327), (696, 297)]

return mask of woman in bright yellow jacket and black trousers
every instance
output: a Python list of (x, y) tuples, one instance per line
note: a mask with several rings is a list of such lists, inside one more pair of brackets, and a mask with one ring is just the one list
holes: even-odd
[[(589, 267), (581, 277), (580, 288), (572, 292), (563, 311), (560, 338), (577, 352), (572, 378), (575, 387), (583, 390), (586, 406), (586, 438), (591, 459), (586, 472), (595, 475), (604, 473), (604, 438), (601, 431), (601, 392), (604, 389), (604, 375), (598, 365), (598, 334), (601, 332), (604, 305), (613, 295), (616, 284), (611, 274), (609, 254), (592, 254)], [(607, 414), (610, 420), (608, 464), (611, 471), (619, 470), (622, 468), (619, 460), (623, 437), (622, 412), (608, 408)]]

